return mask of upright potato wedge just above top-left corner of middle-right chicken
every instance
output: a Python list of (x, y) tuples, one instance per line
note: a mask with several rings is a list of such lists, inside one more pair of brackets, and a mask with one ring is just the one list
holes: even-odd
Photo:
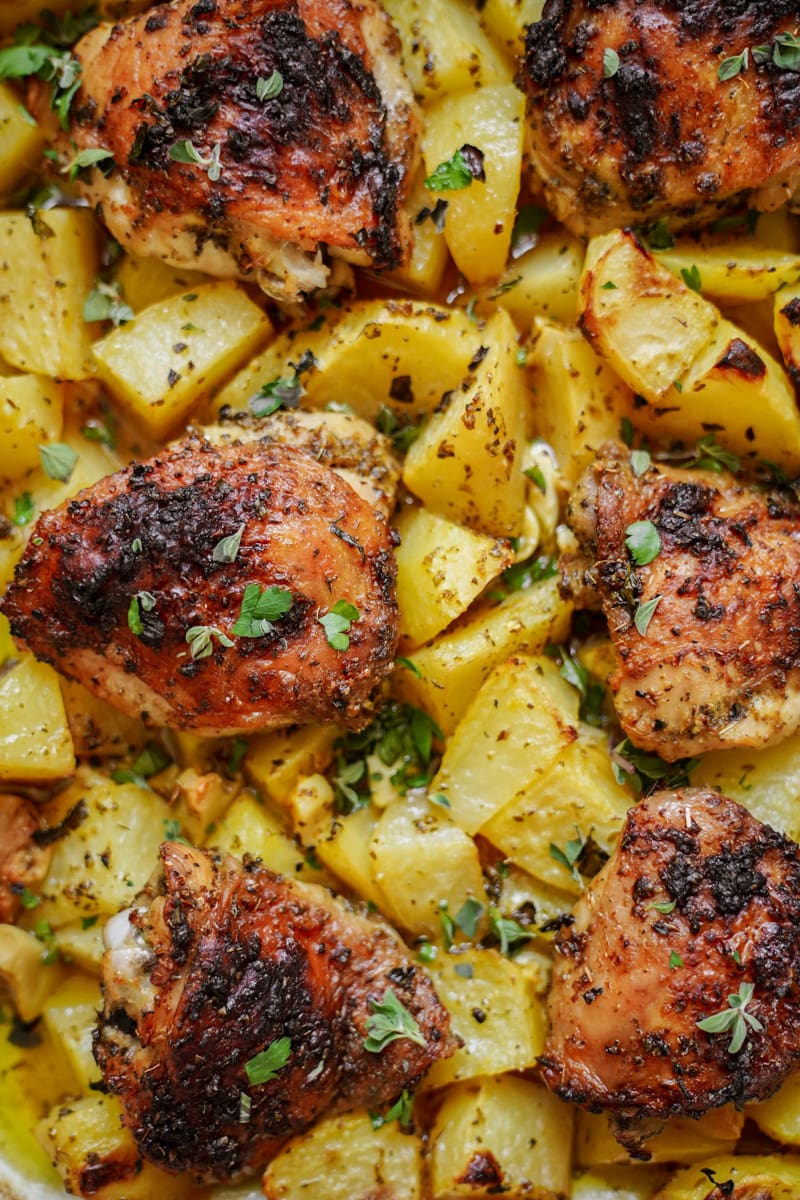
[(603, 442), (619, 437), (621, 419), (632, 416), (633, 392), (576, 329), (542, 323), (528, 367), (534, 428), (573, 487)]

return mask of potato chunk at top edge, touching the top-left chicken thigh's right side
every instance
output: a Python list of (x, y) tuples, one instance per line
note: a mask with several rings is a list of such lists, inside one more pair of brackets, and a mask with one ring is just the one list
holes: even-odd
[(511, 83), (511, 70), (469, 8), (453, 0), (386, 0), (403, 66), (423, 101)]

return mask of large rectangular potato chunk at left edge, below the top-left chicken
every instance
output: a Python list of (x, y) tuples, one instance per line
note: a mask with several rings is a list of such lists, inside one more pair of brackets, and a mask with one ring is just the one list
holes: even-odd
[(24, 212), (0, 214), (0, 354), (12, 366), (56, 379), (94, 374), (84, 300), (100, 269), (97, 226), (89, 209), (41, 214), (41, 238)]

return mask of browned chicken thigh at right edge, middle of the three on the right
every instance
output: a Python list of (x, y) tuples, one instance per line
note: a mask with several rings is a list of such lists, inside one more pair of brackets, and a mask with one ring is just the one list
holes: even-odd
[[(614, 704), (637, 746), (674, 762), (798, 730), (793, 492), (662, 463), (636, 475), (631, 451), (609, 443), (572, 497), (570, 521), (616, 649)], [(642, 552), (630, 547), (643, 540), (656, 557), (637, 565)]]

